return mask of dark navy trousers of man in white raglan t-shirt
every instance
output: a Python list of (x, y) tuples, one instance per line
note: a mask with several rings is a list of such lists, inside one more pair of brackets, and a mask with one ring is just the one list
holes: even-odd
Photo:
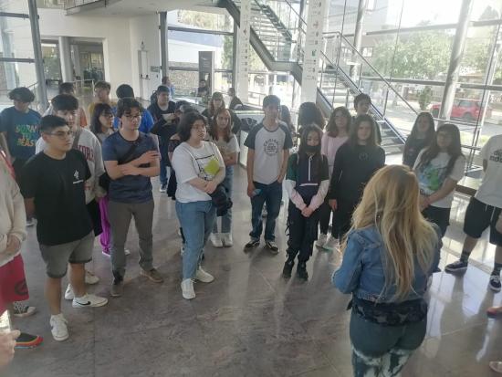
[(276, 220), (280, 211), (280, 201), (282, 200), (282, 183), (273, 182), (263, 184), (254, 182), (256, 189), (261, 193), (251, 198), (251, 225), (253, 230), (249, 233), (251, 238), (259, 239), (263, 230), (263, 220), (261, 211), (263, 204), (267, 204), (267, 222), (265, 224), (265, 240), (275, 241)]

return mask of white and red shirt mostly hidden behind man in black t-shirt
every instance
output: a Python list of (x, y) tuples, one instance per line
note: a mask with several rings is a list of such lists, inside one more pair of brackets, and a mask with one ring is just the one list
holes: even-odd
[[(105, 173), (103, 157), (101, 153), (101, 144), (91, 131), (84, 128), (79, 128), (80, 136), (78, 137), (78, 151), (84, 153), (87, 164), (89, 166), (90, 178), (86, 181), (86, 204), (89, 204), (95, 197), (104, 196), (106, 191), (99, 186), (99, 176)], [(35, 152), (42, 152), (46, 149), (46, 141), (40, 138), (35, 144)]]

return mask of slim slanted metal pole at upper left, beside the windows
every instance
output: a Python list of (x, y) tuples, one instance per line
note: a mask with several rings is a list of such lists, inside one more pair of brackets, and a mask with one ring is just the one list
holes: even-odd
[(40, 110), (47, 110), (47, 86), (44, 75), (44, 60), (42, 58), (42, 44), (40, 42), (40, 28), (38, 26), (37, 0), (28, 0), (29, 23), (31, 25), (31, 38), (33, 40), (33, 53), (35, 69), (37, 71), (37, 92)]

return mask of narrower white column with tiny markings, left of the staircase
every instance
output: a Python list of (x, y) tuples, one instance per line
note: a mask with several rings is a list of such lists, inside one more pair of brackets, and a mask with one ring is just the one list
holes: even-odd
[[(240, 27), (237, 33), (237, 97), (244, 103), (248, 98), (249, 33), (251, 26), (251, 0), (241, 1)], [(235, 51), (234, 51), (235, 53)]]

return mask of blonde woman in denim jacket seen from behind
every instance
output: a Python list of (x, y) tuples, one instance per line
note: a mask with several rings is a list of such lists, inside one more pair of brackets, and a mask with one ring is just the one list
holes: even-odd
[(441, 234), (420, 213), (418, 181), (403, 165), (375, 173), (342, 245), (333, 284), (352, 294), (354, 376), (396, 376), (424, 340), (427, 279)]

